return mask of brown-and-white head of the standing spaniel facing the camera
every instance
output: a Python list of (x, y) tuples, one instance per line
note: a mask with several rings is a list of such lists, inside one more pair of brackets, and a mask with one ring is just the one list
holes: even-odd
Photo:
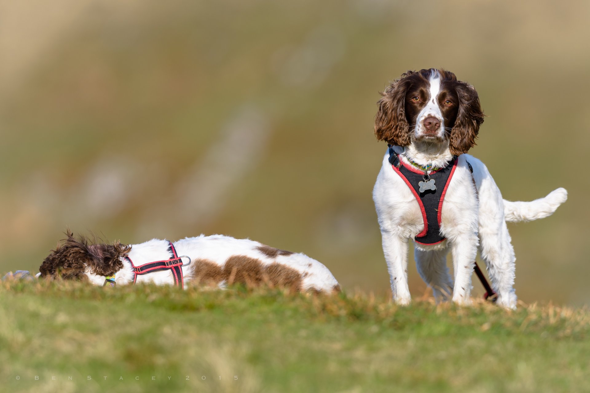
[(408, 71), (378, 101), (375, 136), (395, 146), (412, 141), (448, 143), (452, 154), (475, 146), (483, 123), (477, 91), (445, 70)]

